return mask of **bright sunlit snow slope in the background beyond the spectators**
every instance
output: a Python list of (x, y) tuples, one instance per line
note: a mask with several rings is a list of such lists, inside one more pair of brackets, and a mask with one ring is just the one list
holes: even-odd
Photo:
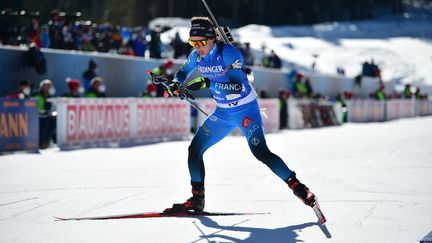
[[(342, 67), (346, 76), (355, 77), (361, 73), (361, 64), (373, 59), (384, 82), (432, 85), (431, 19), (384, 18), (310, 26), (250, 24), (233, 28), (232, 33), (241, 43), (251, 44), (257, 63), (266, 46), (266, 54), (274, 50), (287, 69), (336, 75), (337, 67)], [(167, 25), (172, 26), (171, 21)], [(162, 34), (161, 40), (169, 43), (177, 32), (184, 41), (188, 39), (185, 21)]]

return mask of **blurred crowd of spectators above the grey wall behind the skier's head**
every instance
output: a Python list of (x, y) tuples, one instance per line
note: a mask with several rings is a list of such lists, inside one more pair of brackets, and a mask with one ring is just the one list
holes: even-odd
[[(121, 27), (109, 23), (97, 24), (81, 20), (81, 13), (53, 10), (49, 21), (40, 22), (38, 12), (2, 10), (0, 13), (0, 44), (109, 52), (150, 58), (185, 58), (192, 48), (176, 33), (169, 44), (163, 44), (161, 33), (170, 27)], [(265, 47), (262, 58), (256, 62), (250, 43), (235, 43), (243, 55), (245, 65), (282, 68), (282, 61), (274, 50)]]

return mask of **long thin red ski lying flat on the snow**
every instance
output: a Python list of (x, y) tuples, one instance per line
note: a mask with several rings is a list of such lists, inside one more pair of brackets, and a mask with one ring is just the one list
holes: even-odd
[(241, 216), (241, 215), (262, 215), (269, 213), (226, 213), (226, 212), (143, 212), (133, 214), (117, 214), (117, 215), (106, 215), (106, 216), (94, 216), (94, 217), (72, 217), (63, 218), (55, 217), (57, 221), (71, 221), (71, 220), (110, 220), (110, 219), (141, 219), (141, 218), (162, 218), (162, 217), (201, 217), (201, 216)]

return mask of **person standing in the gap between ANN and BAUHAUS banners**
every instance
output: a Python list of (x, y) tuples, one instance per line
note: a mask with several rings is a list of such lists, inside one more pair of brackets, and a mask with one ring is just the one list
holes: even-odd
[(55, 115), (51, 113), (51, 102), (49, 97), (55, 94), (55, 88), (49, 79), (42, 80), (39, 83), (39, 91), (34, 94), (34, 98), (38, 100), (39, 111), (39, 148), (46, 149), (49, 146), (50, 140), (55, 142)]

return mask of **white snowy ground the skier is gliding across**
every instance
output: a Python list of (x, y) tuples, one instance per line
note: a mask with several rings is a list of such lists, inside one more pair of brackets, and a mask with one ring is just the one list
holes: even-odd
[(189, 196), (188, 141), (0, 157), (0, 242), (418, 242), (432, 230), (432, 118), (284, 131), (270, 148), (328, 223), (227, 137), (206, 156), (208, 211), (268, 215), (54, 221), (161, 210)]

